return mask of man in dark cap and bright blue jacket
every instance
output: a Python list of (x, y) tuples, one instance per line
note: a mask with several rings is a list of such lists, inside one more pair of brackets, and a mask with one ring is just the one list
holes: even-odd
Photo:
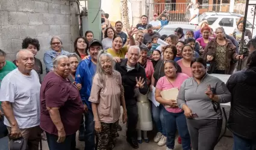
[(75, 74), (76, 83), (80, 83), (82, 85), (82, 89), (80, 90), (81, 99), (84, 104), (84, 141), (85, 147), (84, 150), (94, 150), (95, 149), (95, 134), (94, 134), (94, 121), (93, 121), (93, 112), (92, 112), (92, 104), (89, 101), (90, 92), (92, 89), (92, 79), (96, 73), (96, 64), (97, 64), (97, 56), (99, 50), (102, 49), (102, 44), (99, 40), (92, 40), (89, 44), (89, 59), (84, 59), (80, 62), (77, 67)]

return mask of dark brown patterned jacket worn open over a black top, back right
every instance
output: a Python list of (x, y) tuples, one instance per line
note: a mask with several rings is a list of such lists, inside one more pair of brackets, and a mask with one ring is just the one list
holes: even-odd
[[(225, 74), (231, 74), (234, 71), (234, 66), (235, 66), (235, 61), (236, 61), (236, 46), (234, 46), (234, 44), (228, 40), (227, 38), (225, 38), (226, 40), (226, 71)], [(202, 58), (205, 59), (206, 61), (206, 57), (207, 57), (207, 52), (216, 52), (216, 47), (217, 47), (217, 42), (216, 42), (216, 38), (212, 39), (209, 41), (209, 43), (207, 44), (207, 46), (205, 46), (204, 49), (204, 53), (202, 55)], [(215, 58), (215, 55), (214, 55)]]

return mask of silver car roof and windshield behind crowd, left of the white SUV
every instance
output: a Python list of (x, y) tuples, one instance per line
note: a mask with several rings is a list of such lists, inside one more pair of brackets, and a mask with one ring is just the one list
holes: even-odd
[(162, 28), (160, 28), (157, 32), (160, 34), (160, 35), (171, 35), (171, 34), (175, 34), (174, 31), (176, 28), (183, 28), (183, 32), (184, 34), (186, 34), (186, 32), (188, 30), (192, 30), (192, 31), (195, 31), (196, 30), (196, 26), (195, 25), (186, 25), (186, 24), (170, 24), (170, 25), (166, 25), (166, 26), (163, 26)]

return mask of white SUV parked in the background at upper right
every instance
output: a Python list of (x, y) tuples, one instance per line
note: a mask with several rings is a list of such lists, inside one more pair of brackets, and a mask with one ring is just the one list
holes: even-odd
[[(236, 23), (240, 17), (243, 17), (243, 15), (236, 13), (206, 12), (199, 16), (199, 20), (207, 19), (208, 24), (213, 31), (215, 31), (219, 26), (222, 26), (225, 29), (226, 34), (233, 34), (234, 29), (237, 29)], [(252, 32), (252, 28), (255, 29), (255, 26), (246, 20), (246, 29), (249, 29)], [(256, 32), (252, 33), (252, 37), (254, 37), (254, 35), (256, 35)]]

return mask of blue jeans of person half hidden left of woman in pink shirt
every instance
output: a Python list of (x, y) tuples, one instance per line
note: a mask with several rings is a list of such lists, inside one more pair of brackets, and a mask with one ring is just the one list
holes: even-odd
[(166, 136), (166, 128), (163, 116), (164, 106), (160, 104), (160, 106), (156, 107), (154, 103), (152, 103), (152, 118), (157, 127), (157, 131)]

